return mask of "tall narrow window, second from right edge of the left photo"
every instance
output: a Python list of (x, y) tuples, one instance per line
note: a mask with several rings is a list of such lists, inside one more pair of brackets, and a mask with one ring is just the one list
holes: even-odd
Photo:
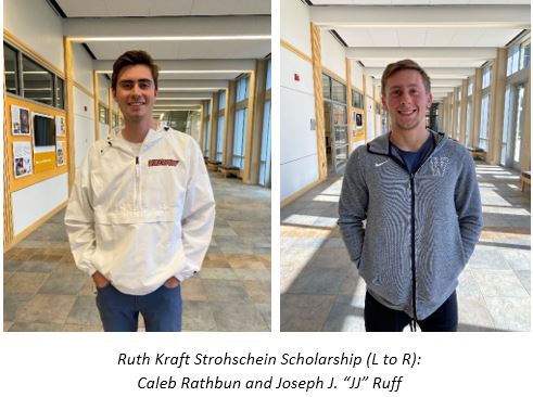
[(246, 117), (248, 117), (248, 94), (250, 76), (237, 80), (236, 93), (236, 117), (233, 128), (233, 153), (231, 165), (244, 168), (244, 157), (246, 155)]

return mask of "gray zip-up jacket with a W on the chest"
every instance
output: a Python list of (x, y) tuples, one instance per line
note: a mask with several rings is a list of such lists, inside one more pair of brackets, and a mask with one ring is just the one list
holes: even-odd
[(430, 133), (434, 149), (413, 175), (390, 133), (357, 148), (339, 203), (344, 243), (369, 293), (419, 320), (455, 291), (483, 226), (470, 153)]

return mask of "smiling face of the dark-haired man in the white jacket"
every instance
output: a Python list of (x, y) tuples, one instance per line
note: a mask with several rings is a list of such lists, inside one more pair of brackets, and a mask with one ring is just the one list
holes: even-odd
[(126, 125), (150, 121), (156, 97), (150, 67), (139, 64), (120, 69), (113, 98), (120, 107)]

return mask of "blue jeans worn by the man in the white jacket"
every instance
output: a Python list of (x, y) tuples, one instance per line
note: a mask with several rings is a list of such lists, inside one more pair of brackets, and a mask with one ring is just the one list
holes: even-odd
[(124, 294), (111, 283), (97, 291), (97, 307), (106, 332), (136, 332), (139, 313), (147, 331), (181, 331), (181, 285), (162, 285), (148, 295)]

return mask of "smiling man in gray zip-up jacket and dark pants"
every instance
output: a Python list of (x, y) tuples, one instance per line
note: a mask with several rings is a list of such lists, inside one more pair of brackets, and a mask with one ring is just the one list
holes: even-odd
[(417, 63), (390, 64), (381, 80), (391, 131), (352, 154), (339, 204), (367, 284), (365, 328), (457, 331), (457, 279), (482, 229), (475, 166), (465, 146), (426, 128), (430, 78)]

